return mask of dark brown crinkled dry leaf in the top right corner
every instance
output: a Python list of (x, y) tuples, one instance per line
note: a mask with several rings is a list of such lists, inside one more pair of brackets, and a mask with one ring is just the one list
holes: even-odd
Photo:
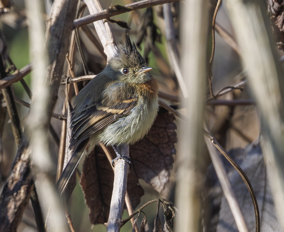
[(278, 48), (284, 50), (284, 3), (279, 0), (268, 0), (268, 12)]

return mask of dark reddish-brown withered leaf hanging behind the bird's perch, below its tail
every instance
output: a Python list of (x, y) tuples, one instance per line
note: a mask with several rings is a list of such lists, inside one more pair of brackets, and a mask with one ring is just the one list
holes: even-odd
[[(109, 147), (109, 151), (115, 157), (111, 147)], [(85, 202), (89, 208), (89, 220), (92, 224), (105, 223), (108, 220), (113, 180), (114, 173), (111, 164), (101, 147), (97, 146), (85, 158), (80, 180)], [(144, 191), (133, 170), (130, 170), (128, 174), (127, 190), (132, 207), (136, 208)]]

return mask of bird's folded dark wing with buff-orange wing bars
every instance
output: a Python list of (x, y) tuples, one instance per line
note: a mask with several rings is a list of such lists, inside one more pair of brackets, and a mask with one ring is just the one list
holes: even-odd
[[(87, 139), (91, 134), (105, 128), (120, 117), (127, 115), (130, 110), (137, 104), (136, 95), (125, 96), (122, 86), (113, 87), (104, 96), (104, 101), (91, 104), (90, 106), (80, 105), (83, 109), (79, 111), (75, 106), (71, 117), (71, 139), (70, 147)], [(115, 91), (115, 93), (113, 92)], [(122, 91), (122, 92), (121, 92)], [(119, 94), (118, 94), (119, 93)], [(86, 99), (84, 102), (89, 102)]]

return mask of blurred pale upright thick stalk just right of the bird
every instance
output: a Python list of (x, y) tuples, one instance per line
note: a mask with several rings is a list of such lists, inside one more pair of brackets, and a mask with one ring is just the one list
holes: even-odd
[(179, 126), (178, 135), (176, 204), (179, 213), (175, 231), (201, 231), (208, 1), (184, 1), (181, 22), (181, 74), (188, 98), (182, 102), (187, 119)]

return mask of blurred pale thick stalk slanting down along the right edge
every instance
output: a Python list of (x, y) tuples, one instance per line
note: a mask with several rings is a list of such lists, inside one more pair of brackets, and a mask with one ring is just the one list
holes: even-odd
[(284, 82), (267, 6), (263, 1), (224, 1), (231, 19), (241, 60), (261, 115), (261, 146), (271, 180), (275, 208), (284, 229)]

